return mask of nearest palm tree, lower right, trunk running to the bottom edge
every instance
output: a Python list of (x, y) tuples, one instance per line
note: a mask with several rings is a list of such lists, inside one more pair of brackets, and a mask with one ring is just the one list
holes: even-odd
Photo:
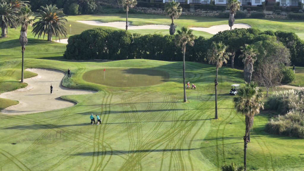
[(246, 149), (247, 143), (250, 142), (250, 128), (253, 125), (254, 115), (260, 113), (260, 109), (264, 109), (264, 103), (262, 102), (263, 94), (257, 84), (246, 83), (244, 87), (238, 90), (238, 97), (233, 98), (234, 107), (237, 112), (245, 115), (245, 136), (244, 139), (244, 167), (246, 170)]

